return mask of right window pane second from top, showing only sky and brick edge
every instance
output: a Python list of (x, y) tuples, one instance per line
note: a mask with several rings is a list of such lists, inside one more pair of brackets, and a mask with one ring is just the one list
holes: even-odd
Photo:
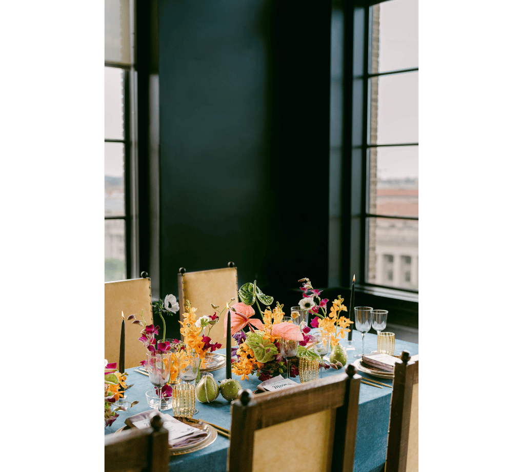
[(419, 72), (372, 77), (370, 144), (419, 141)]

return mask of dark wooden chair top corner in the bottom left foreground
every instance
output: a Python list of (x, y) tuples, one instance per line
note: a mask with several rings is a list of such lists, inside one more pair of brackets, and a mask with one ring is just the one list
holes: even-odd
[(133, 428), (105, 436), (105, 472), (167, 472), (169, 470), (168, 432), (156, 415), (151, 427)]

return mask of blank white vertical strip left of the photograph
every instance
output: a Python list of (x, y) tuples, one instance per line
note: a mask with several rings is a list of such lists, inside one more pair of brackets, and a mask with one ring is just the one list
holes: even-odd
[(103, 470), (104, 3), (1, 17), (2, 465)]

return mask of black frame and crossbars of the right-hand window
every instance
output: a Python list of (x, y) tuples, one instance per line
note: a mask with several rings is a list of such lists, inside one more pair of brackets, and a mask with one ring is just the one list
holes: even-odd
[[(390, 75), (400, 71), (370, 73), (371, 53), (371, 7), (383, 3), (374, 0), (355, 2), (336, 2), (345, 10), (345, 99), (344, 99), (344, 164), (345, 185), (342, 201), (342, 237), (347, 242), (342, 246), (343, 287), (350, 287), (353, 274), (356, 274), (356, 290), (360, 293), (359, 304), (369, 306), (387, 304), (390, 309), (401, 312), (405, 324), (417, 327), (419, 291), (370, 284), (366, 282), (367, 271), (367, 221), (371, 217), (390, 219), (412, 219), (393, 215), (374, 215), (368, 212), (368, 176), (370, 148), (384, 147), (383, 144), (369, 145), (368, 131), (370, 120), (370, 77)], [(349, 34), (349, 33), (352, 34)], [(401, 72), (411, 69), (402, 69)], [(419, 70), (413, 68), (412, 70)], [(350, 93), (351, 92), (351, 93)], [(405, 143), (407, 144), (407, 143)], [(405, 144), (392, 144), (405, 145)], [(418, 145), (418, 143), (408, 143)], [(399, 321), (399, 320), (398, 320)]]

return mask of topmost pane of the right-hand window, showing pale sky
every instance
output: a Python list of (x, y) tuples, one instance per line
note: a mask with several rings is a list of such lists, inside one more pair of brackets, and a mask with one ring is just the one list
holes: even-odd
[(372, 73), (419, 67), (418, 3), (393, 0), (372, 7), (372, 44), (379, 50)]

